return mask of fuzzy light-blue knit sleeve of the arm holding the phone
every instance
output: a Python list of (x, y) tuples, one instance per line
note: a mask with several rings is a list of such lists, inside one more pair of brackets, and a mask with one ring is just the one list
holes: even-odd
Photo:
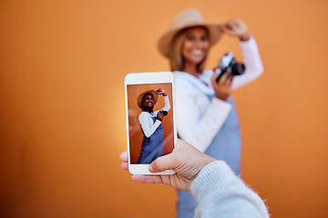
[(206, 165), (190, 183), (197, 203), (195, 217), (267, 217), (260, 196), (248, 188), (223, 161)]

